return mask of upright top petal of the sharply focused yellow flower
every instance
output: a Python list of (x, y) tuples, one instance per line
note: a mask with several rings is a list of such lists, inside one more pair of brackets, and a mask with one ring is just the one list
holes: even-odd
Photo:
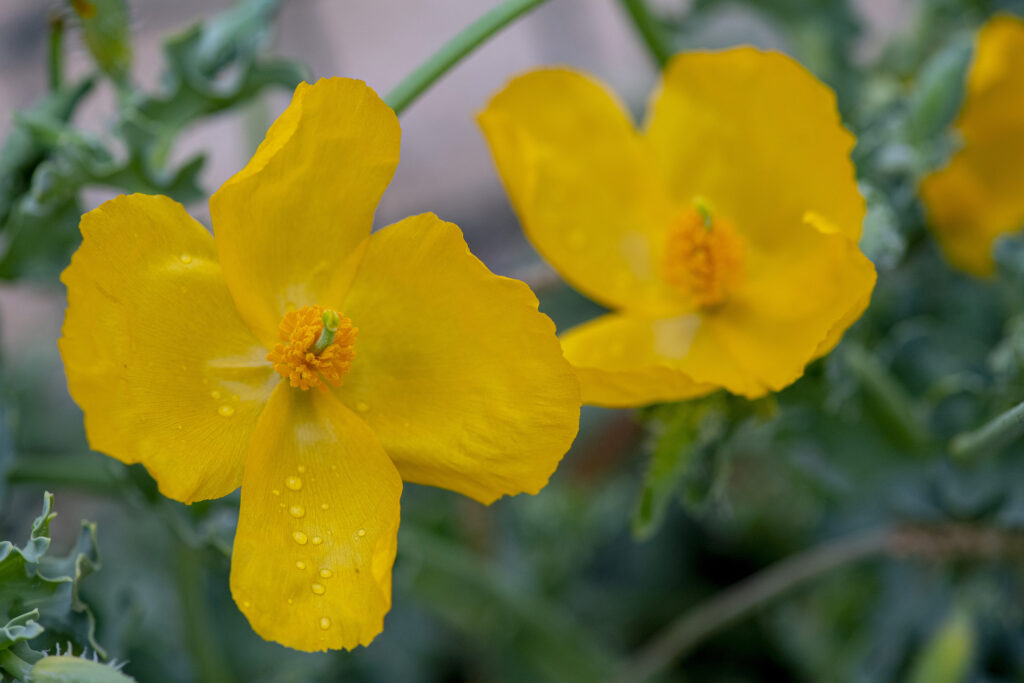
[(341, 303), (399, 138), (394, 113), (361, 81), (303, 83), (252, 161), (210, 199), (224, 276), (264, 344), (286, 309)]

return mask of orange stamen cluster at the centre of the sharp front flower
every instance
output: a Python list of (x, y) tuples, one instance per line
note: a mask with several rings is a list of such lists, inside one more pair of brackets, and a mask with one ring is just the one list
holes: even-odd
[(355, 357), (352, 322), (324, 306), (303, 306), (281, 318), (278, 335), (283, 340), (266, 354), (279, 375), (293, 387), (327, 390), (324, 382), (341, 386)]

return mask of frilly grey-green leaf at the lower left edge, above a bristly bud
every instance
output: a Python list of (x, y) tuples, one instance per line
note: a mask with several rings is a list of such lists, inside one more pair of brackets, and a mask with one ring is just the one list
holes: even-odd
[(99, 568), (96, 527), (83, 522), (78, 543), (65, 557), (47, 555), (53, 495), (44, 494), (43, 511), (29, 541), (18, 548), (0, 543), (0, 615), (11, 618), (38, 610), (39, 623), (55, 638), (67, 638), (103, 654), (95, 641), (95, 620), (79, 597), (80, 582)]

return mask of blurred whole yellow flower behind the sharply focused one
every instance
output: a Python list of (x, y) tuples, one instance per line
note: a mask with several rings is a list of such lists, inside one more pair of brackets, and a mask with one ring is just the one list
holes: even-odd
[(781, 389), (867, 306), (853, 136), (782, 54), (676, 56), (642, 131), (561, 69), (516, 78), (479, 122), (528, 238), (612, 309), (562, 340), (584, 402)]

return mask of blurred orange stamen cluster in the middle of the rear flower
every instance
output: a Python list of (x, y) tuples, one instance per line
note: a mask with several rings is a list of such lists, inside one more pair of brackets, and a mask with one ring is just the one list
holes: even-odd
[(732, 223), (695, 203), (669, 228), (662, 276), (694, 306), (711, 308), (742, 282), (744, 262), (743, 239)]

